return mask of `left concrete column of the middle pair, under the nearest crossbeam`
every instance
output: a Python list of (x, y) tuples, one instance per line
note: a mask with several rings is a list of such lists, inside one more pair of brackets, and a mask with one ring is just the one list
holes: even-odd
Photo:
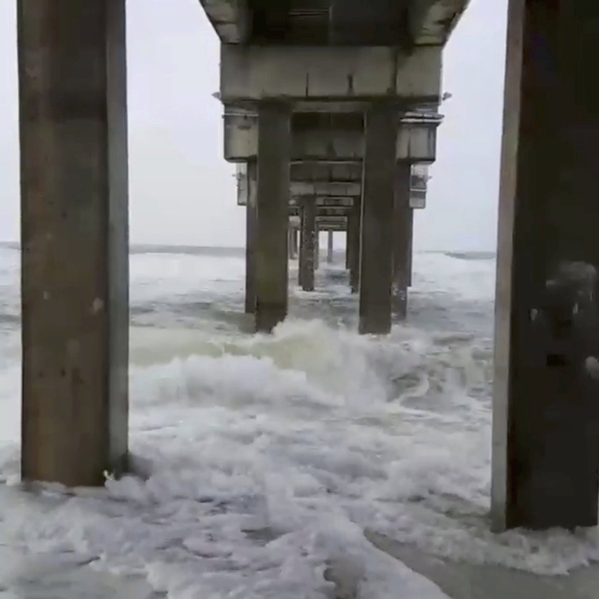
[(256, 330), (271, 332), (287, 315), (291, 117), (283, 103), (258, 107)]

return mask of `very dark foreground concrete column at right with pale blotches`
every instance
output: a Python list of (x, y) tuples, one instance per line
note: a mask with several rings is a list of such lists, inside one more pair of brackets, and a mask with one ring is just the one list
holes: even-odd
[(597, 525), (597, 40), (592, 3), (510, 0), (495, 321), (495, 530)]

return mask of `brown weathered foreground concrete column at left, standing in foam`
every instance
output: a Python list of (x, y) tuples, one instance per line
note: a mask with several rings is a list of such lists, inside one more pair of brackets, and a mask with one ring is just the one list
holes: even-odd
[(125, 0), (18, 0), (22, 476), (104, 483), (128, 453)]

